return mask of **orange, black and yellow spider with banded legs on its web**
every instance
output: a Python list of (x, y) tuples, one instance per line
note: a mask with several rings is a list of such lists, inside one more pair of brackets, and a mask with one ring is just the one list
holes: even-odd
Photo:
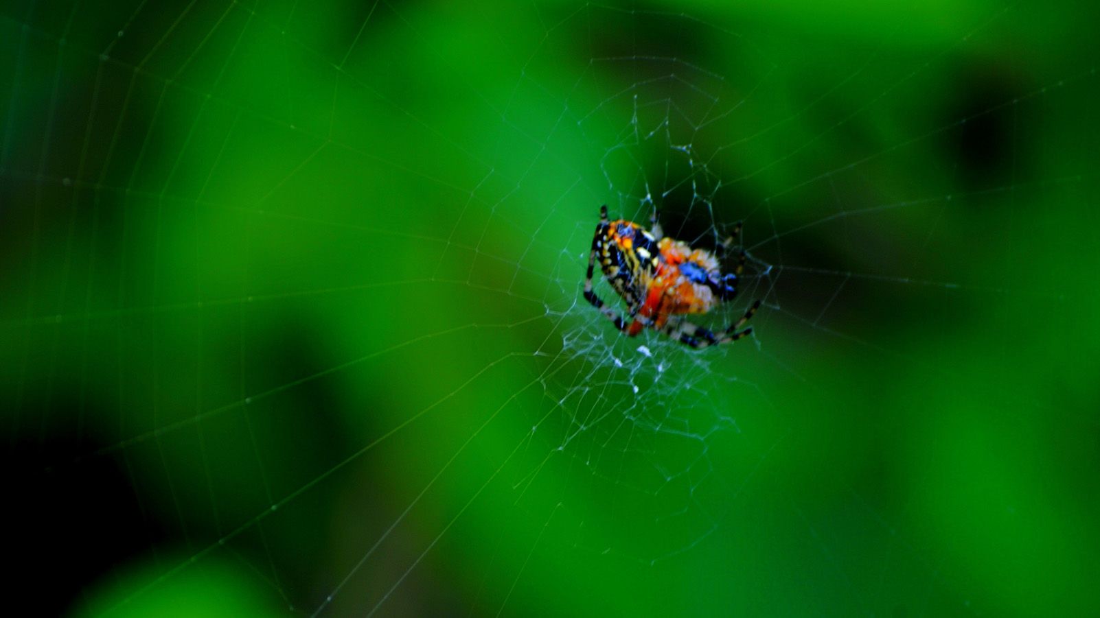
[[(738, 223), (734, 236), (740, 235), (740, 229)], [(734, 236), (721, 245), (723, 252), (733, 244)], [(627, 319), (605, 307), (592, 290), (597, 258), (607, 282), (627, 304)], [(734, 272), (723, 274), (715, 254), (664, 236), (657, 222), (656, 208), (647, 231), (625, 219), (608, 220), (605, 205), (600, 207), (600, 224), (592, 238), (584, 298), (628, 336), (649, 327), (695, 349), (737, 341), (752, 332), (751, 328), (737, 329), (756, 313), (759, 300), (737, 322), (718, 333), (693, 324), (682, 316), (706, 313), (719, 302), (733, 300), (737, 296), (737, 276), (745, 268), (746, 260), (741, 250)]]

